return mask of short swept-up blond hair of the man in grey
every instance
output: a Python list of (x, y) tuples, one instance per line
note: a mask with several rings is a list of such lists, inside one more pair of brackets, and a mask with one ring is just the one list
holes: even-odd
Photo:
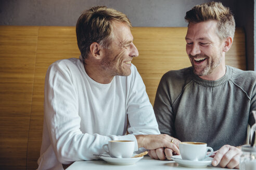
[(191, 10), (186, 12), (185, 20), (188, 24), (198, 23), (203, 21), (217, 21), (216, 34), (221, 40), (227, 37), (234, 37), (235, 34), (235, 19), (228, 7), (225, 7), (220, 2), (210, 2), (201, 5), (196, 5)]

